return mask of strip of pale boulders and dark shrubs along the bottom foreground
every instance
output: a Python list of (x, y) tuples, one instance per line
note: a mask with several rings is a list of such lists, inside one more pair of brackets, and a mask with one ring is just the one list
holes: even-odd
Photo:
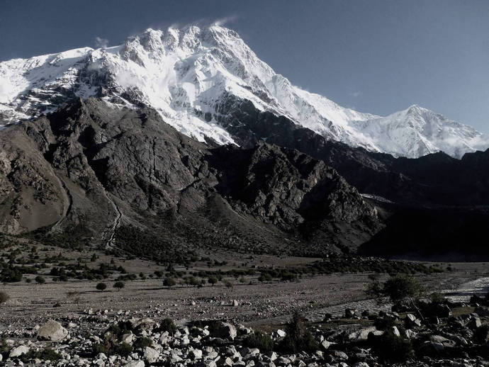
[[(130, 311), (7, 328), (5, 366), (489, 366), (489, 295), (471, 305), (420, 303), (417, 312), (345, 310), (310, 323), (254, 331), (225, 321), (182, 321)], [(452, 310), (456, 310), (452, 312)]]

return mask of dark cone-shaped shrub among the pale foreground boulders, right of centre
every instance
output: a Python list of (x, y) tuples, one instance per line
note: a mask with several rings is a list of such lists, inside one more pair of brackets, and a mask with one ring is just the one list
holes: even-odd
[(279, 349), (288, 354), (300, 351), (315, 352), (318, 349), (317, 342), (305, 326), (305, 319), (299, 312), (293, 314), (292, 320), (286, 326), (286, 337), (279, 344)]

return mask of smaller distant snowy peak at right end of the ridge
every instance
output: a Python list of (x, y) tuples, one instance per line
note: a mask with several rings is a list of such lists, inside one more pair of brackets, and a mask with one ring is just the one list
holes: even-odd
[(417, 105), (385, 118), (357, 121), (354, 127), (379, 151), (395, 156), (416, 158), (442, 151), (460, 158), (489, 146), (489, 136)]

